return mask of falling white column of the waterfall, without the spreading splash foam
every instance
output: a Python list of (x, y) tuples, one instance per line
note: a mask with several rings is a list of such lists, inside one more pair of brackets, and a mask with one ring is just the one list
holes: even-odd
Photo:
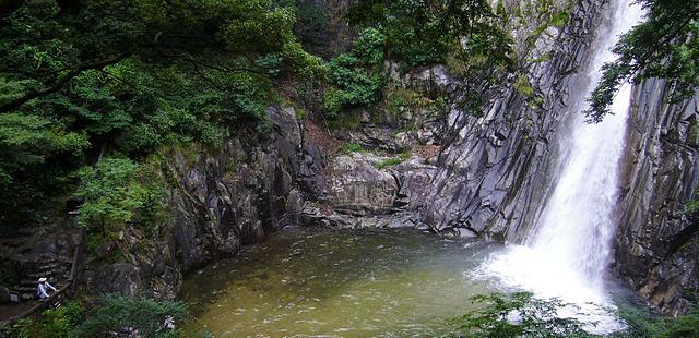
[[(641, 16), (639, 5), (631, 5), (630, 0), (618, 1), (609, 32), (602, 32), (595, 41), (596, 53), (585, 93), (592, 92), (599, 82), (601, 67), (614, 60), (611, 49), (618, 36), (628, 32)], [(535, 252), (572, 268), (595, 289), (602, 287), (616, 230), (614, 206), (630, 101), (631, 86), (627, 84), (613, 102), (614, 114), (603, 122), (590, 125), (582, 113), (576, 111), (572, 135), (564, 140), (570, 155), (565, 158), (535, 231), (525, 242)], [(587, 108), (576, 106), (580, 107)]]

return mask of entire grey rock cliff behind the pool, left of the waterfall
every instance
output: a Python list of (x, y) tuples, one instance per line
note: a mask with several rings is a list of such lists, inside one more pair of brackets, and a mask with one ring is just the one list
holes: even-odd
[[(445, 67), (400, 74), (389, 63), (399, 94), (419, 97), (415, 106), (360, 112), (358, 128), (333, 135), (299, 123), (293, 109), (273, 108), (273, 133), (263, 140), (232, 137), (215, 154), (173, 150), (164, 169), (174, 182), (170, 226), (155, 238), (134, 229), (120, 234), (138, 246), (98, 249), (85, 282), (173, 297), (183, 274), (298, 222), (517, 239), (546, 195), (555, 135), (604, 3), (582, 0), (569, 25), (537, 36), (525, 55), (536, 61), (488, 89), (483, 117), (455, 104), (472, 84)], [(522, 79), (533, 94), (514, 85)], [(434, 109), (440, 98), (451, 102), (447, 111)], [(366, 152), (337, 154), (323, 137)]]

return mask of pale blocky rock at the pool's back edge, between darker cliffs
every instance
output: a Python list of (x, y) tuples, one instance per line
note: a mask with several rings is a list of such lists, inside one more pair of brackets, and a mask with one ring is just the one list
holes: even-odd
[[(383, 167), (391, 160), (398, 162)], [(436, 172), (425, 158), (341, 155), (330, 164), (330, 198), (307, 204), (306, 222), (333, 227), (417, 226), (416, 210)]]

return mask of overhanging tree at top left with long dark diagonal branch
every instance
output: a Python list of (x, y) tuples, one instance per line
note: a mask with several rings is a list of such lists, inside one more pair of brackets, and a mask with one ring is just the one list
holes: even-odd
[[(129, 57), (228, 73), (266, 74), (254, 59), (272, 53), (288, 70), (319, 64), (295, 40), (293, 12), (270, 0), (29, 0), (2, 22), (0, 35), (7, 40), (0, 50), (8, 57), (0, 69), (21, 89), (0, 101), (0, 111), (59, 92), (82, 72)], [(211, 60), (204, 58), (208, 52), (228, 58)]]

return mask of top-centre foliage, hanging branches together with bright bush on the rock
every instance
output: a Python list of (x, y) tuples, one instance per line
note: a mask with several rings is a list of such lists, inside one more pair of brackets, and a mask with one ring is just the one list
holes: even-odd
[[(352, 8), (347, 19), (359, 33), (353, 49), (330, 62), (333, 86), (324, 104), (330, 118), (342, 108), (379, 101), (388, 60), (410, 70), (449, 59), (473, 79), (490, 79), (494, 70), (513, 64), (511, 38), (488, 1), (369, 0)], [(479, 95), (467, 96), (472, 100)]]

